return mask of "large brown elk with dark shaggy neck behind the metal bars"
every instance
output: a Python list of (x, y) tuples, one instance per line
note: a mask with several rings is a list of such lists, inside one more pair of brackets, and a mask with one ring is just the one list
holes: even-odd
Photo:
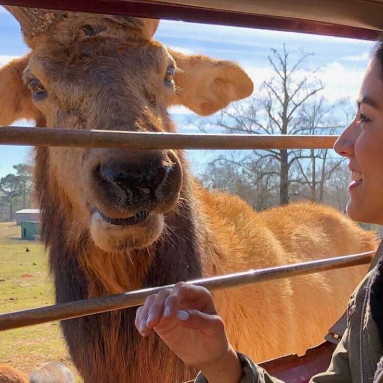
[[(6, 8), (31, 53), (0, 70), (2, 125), (25, 117), (38, 127), (174, 132), (167, 107), (208, 115), (253, 91), (235, 63), (154, 41), (157, 20)], [(374, 234), (324, 205), (256, 212), (238, 197), (209, 192), (182, 151), (34, 153), (58, 303), (376, 247)], [(233, 345), (261, 361), (321, 342), (365, 270), (265, 282), (215, 300)], [(155, 336), (141, 339), (135, 312), (61, 323), (84, 381), (192, 378), (195, 371)]]

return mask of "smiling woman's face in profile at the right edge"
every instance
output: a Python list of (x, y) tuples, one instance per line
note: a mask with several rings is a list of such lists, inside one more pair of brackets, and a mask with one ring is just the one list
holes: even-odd
[(383, 82), (377, 59), (367, 68), (356, 117), (334, 150), (349, 159), (348, 215), (355, 221), (383, 224)]

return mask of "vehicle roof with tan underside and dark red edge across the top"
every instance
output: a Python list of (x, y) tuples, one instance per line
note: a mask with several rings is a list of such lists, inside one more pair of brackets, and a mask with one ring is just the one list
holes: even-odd
[(375, 39), (383, 31), (383, 0), (0, 0), (84, 12), (181, 19)]

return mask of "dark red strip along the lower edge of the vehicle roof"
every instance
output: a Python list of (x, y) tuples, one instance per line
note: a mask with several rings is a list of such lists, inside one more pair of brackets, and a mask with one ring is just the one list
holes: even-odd
[[(376, 40), (380, 32), (375, 28), (362, 28), (357, 26), (342, 25), (342, 23), (312, 20), (311, 17), (295, 18), (275, 16), (268, 14), (256, 14), (250, 12), (239, 12), (235, 10), (215, 9), (201, 6), (187, 6), (182, 4), (166, 4), (160, 1), (139, 2), (129, 0), (0, 0), (0, 4), (69, 10), (78, 12), (96, 12), (105, 14), (121, 14), (134, 17), (165, 18), (170, 20), (183, 20), (189, 22), (210, 23), (218, 25), (229, 25), (236, 27), (250, 27), (259, 29), (272, 29), (278, 31), (303, 32), (327, 36), (339, 36)], [(296, 6), (296, 2), (292, 6)], [(370, 4), (367, 4), (370, 5)], [(310, 7), (310, 6), (308, 6)], [(366, 5), (364, 5), (366, 7)], [(271, 10), (275, 7), (271, 6)], [(350, 8), (350, 7), (348, 7)], [(331, 14), (334, 9), (329, 9)], [(343, 9), (343, 13), (347, 8)], [(366, 13), (366, 12), (365, 12)], [(367, 12), (368, 13), (368, 12)], [(376, 12), (375, 12), (376, 13)], [(349, 16), (350, 20), (357, 21), (357, 15)], [(376, 28), (378, 29), (378, 28)]]

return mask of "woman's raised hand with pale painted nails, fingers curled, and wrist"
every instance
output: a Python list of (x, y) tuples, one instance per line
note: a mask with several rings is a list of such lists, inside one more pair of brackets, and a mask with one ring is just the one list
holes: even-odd
[(144, 337), (154, 330), (186, 365), (202, 371), (210, 383), (239, 381), (242, 371), (238, 356), (207, 289), (180, 282), (173, 289), (150, 295), (138, 308), (135, 324)]

